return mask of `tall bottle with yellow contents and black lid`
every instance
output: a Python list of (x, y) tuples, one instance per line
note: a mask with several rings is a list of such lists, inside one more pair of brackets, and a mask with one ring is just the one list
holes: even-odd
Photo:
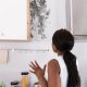
[(22, 72), (22, 87), (29, 87), (28, 72)]

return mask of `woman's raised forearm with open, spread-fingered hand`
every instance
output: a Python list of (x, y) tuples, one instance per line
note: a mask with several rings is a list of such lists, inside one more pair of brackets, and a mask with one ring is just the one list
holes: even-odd
[(35, 61), (35, 63), (32, 62), (32, 64), (29, 64), (29, 66), (33, 69), (33, 71), (30, 71), (30, 72), (37, 76), (40, 86), (41, 87), (48, 87), (48, 83), (45, 78), (46, 65), (44, 66), (44, 70), (42, 70), (39, 66), (39, 64)]

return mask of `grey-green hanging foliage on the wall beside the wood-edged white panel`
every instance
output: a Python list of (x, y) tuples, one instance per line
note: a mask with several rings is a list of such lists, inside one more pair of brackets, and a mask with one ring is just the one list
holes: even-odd
[(47, 38), (45, 34), (46, 22), (49, 17), (50, 10), (47, 9), (46, 0), (30, 0), (30, 37), (33, 40)]

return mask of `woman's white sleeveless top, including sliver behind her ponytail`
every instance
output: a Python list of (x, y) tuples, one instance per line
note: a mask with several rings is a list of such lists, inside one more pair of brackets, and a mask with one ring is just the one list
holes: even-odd
[[(48, 60), (48, 62), (52, 59), (55, 59), (59, 62), (59, 65), (60, 65), (60, 69), (61, 69), (61, 72), (60, 72), (61, 87), (66, 87), (66, 84), (67, 84), (67, 69), (66, 69), (66, 64), (63, 60), (63, 55), (53, 54), (51, 57), (51, 59)], [(77, 59), (76, 59), (76, 65), (77, 65), (78, 72), (79, 72), (78, 60)], [(46, 72), (48, 72), (48, 63), (47, 63)], [(46, 73), (45, 76), (48, 79), (48, 73)]]

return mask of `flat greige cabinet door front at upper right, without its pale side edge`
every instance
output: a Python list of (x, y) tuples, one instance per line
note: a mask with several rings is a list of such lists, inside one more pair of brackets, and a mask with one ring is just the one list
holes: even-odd
[(87, 0), (73, 0), (74, 35), (87, 35)]

